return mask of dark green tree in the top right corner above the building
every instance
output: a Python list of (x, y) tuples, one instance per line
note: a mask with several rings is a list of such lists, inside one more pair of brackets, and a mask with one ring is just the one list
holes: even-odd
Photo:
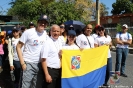
[(117, 0), (115, 3), (112, 4), (112, 7), (113, 9), (111, 13), (113, 15), (133, 12), (133, 3), (130, 0)]

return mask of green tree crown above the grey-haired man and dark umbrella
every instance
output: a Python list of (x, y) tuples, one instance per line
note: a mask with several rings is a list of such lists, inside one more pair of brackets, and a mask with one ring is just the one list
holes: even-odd
[(82, 16), (73, 3), (64, 1), (52, 2), (47, 6), (46, 13), (50, 17), (51, 24), (59, 24), (67, 20), (81, 20)]

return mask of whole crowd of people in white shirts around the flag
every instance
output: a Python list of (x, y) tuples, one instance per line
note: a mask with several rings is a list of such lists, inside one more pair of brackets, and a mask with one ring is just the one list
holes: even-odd
[[(112, 39), (102, 25), (93, 28), (91, 24), (87, 24), (81, 33), (77, 34), (72, 25), (65, 29), (65, 24), (54, 24), (47, 33), (45, 28), (48, 24), (48, 17), (42, 15), (36, 27), (33, 22), (30, 22), (29, 29), (21, 27), (21, 34), (17, 28), (12, 30), (12, 36), (8, 35), (4, 40), (1, 34), (0, 72), (2, 60), (8, 56), (10, 72), (15, 76), (11, 76), (15, 88), (61, 88), (62, 49), (82, 51), (102, 45), (111, 48)], [(127, 77), (125, 63), (128, 46), (132, 43), (132, 35), (127, 31), (128, 26), (124, 24), (122, 31), (116, 34), (115, 71), (120, 71), (123, 77)], [(5, 45), (6, 49), (3, 48)], [(111, 71), (112, 58), (109, 49), (103, 86), (109, 87)]]

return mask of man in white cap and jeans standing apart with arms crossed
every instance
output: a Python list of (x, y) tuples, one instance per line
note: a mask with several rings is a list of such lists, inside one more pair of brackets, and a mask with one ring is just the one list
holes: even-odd
[(128, 55), (128, 46), (132, 43), (132, 35), (127, 32), (128, 26), (124, 24), (122, 26), (122, 32), (116, 34), (116, 64), (115, 71), (120, 71), (120, 75), (127, 77), (125, 74), (125, 63)]

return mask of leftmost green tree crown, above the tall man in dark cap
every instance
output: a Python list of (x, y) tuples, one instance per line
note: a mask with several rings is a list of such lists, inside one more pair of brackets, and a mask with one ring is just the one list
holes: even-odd
[(16, 0), (12, 8), (8, 10), (8, 15), (18, 16), (20, 21), (28, 24), (30, 21), (38, 19), (45, 12), (39, 0)]

